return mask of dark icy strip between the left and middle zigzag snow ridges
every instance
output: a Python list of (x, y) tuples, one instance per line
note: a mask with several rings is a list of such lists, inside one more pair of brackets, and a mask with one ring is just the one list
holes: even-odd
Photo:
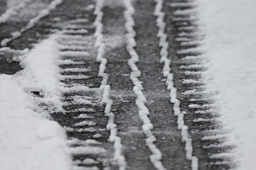
[(145, 145), (145, 136), (141, 131), (136, 97), (132, 93), (133, 84), (129, 79), (130, 68), (127, 62), (130, 56), (125, 45), (126, 21), (123, 3), (118, 1), (115, 5), (107, 5), (103, 11), (105, 57), (108, 59), (106, 72), (109, 74), (111, 85), (112, 112), (115, 114), (118, 136), (122, 140), (127, 161), (126, 169), (153, 169), (149, 158), (150, 151)]

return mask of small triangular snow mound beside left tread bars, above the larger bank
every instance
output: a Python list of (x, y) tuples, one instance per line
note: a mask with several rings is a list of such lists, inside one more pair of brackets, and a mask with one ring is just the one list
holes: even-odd
[(59, 82), (61, 69), (55, 39), (56, 37), (52, 36), (37, 44), (20, 62), (24, 70), (14, 75), (26, 91), (39, 91), (43, 96), (41, 102), (52, 106), (52, 112), (62, 109), (62, 84)]

